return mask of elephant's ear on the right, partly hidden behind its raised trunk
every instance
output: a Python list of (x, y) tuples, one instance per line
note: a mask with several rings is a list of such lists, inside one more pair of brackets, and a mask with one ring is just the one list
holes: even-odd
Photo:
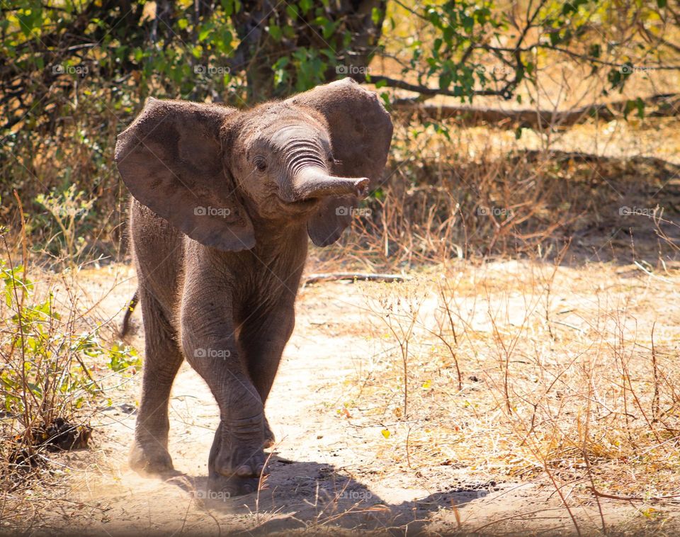
[[(371, 188), (380, 184), (392, 140), (392, 120), (378, 96), (350, 78), (317, 86), (290, 98), (324, 115), (331, 130), (333, 156), (339, 161), (333, 173), (344, 177), (368, 177)], [(336, 242), (352, 219), (355, 196), (329, 198), (307, 224), (312, 242), (327, 246)]]

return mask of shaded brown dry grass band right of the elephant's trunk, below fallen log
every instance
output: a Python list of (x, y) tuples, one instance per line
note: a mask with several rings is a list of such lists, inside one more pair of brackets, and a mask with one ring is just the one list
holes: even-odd
[[(537, 149), (526, 136), (509, 140), (502, 131), (439, 128), (397, 118), (387, 179), (365, 202), (351, 234), (336, 247), (312, 251), (315, 271), (338, 264), (409, 271), (489, 256), (555, 259), (569, 242), (570, 256), (581, 259), (625, 261), (631, 244), (635, 259), (652, 265), (674, 257), (680, 167), (650, 156), (648, 146), (613, 156), (620, 129), (601, 126), (610, 150), (589, 154)], [(651, 140), (654, 128), (650, 120), (647, 134), (638, 136)], [(625, 208), (645, 214), (622, 213)]]

